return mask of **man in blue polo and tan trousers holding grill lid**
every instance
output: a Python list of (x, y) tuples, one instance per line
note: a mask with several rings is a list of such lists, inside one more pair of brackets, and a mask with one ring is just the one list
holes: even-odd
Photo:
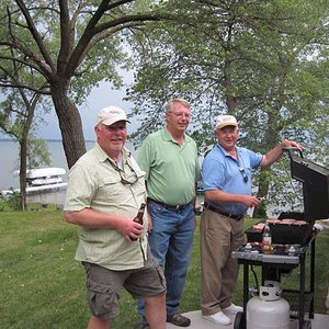
[(238, 147), (239, 128), (232, 115), (217, 117), (215, 135), (218, 144), (202, 163), (205, 202), (201, 218), (201, 309), (203, 318), (225, 326), (230, 325), (228, 315), (243, 310), (231, 303), (239, 265), (230, 252), (245, 243), (247, 209), (261, 202), (251, 196), (251, 170), (271, 166), (284, 147), (302, 147), (284, 140), (263, 156)]

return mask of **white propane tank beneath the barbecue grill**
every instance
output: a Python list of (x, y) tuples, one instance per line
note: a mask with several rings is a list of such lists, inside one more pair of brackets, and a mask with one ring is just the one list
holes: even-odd
[(247, 329), (290, 329), (290, 304), (281, 298), (280, 283), (265, 281), (259, 296), (247, 303)]

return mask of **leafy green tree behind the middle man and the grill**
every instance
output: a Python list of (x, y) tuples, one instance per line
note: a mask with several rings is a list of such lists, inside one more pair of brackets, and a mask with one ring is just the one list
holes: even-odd
[[(222, 113), (237, 116), (240, 145), (262, 152), (283, 138), (303, 141), (307, 151), (319, 146), (316, 138), (328, 139), (327, 1), (171, 5), (173, 11), (189, 8), (179, 24), (155, 26), (135, 41), (140, 69), (129, 98), (133, 113), (141, 117), (136, 143), (161, 124), (157, 114), (172, 95), (191, 100), (191, 133), (203, 151), (215, 141), (212, 122)], [(318, 160), (326, 163), (324, 157)], [(261, 173), (258, 196), (287, 202), (277, 193), (286, 186), (282, 170), (275, 164)]]

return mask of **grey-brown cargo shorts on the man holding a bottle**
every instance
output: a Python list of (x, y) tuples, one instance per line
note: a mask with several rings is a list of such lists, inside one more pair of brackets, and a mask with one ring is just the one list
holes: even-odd
[(147, 298), (166, 293), (161, 268), (148, 257), (145, 266), (136, 270), (112, 271), (98, 264), (82, 262), (87, 272), (87, 299), (93, 316), (110, 320), (118, 316), (122, 287), (134, 298)]

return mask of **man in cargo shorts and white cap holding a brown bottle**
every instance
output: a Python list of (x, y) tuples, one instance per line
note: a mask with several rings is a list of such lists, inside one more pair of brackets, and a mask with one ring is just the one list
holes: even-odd
[(166, 328), (166, 280), (147, 242), (147, 220), (135, 223), (146, 202), (145, 172), (124, 148), (127, 117), (123, 110), (100, 111), (95, 146), (70, 169), (65, 218), (79, 226), (76, 260), (87, 273), (92, 314), (88, 328), (105, 329), (118, 315), (124, 287), (145, 298), (150, 328)]

